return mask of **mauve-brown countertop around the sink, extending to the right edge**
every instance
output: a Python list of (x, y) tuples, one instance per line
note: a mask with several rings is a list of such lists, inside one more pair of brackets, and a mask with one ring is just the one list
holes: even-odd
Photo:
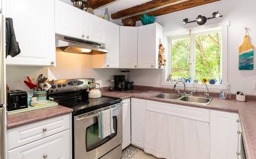
[(152, 90), (126, 90), (125, 92), (102, 92), (102, 95), (122, 99), (139, 98), (158, 102), (239, 113), (242, 125), (242, 133), (244, 137), (246, 157), (247, 159), (256, 159), (256, 101), (238, 102), (236, 100), (214, 98), (209, 105), (202, 105), (152, 97), (160, 93), (162, 92)]

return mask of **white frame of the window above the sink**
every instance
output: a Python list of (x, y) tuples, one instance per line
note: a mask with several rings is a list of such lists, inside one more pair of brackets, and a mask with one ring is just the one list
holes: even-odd
[[(195, 63), (195, 46), (194, 46), (194, 36), (202, 33), (209, 33), (209, 32), (217, 32), (221, 31), (221, 76), (222, 76), (222, 84), (207, 84), (208, 88), (210, 90), (213, 89), (225, 89), (227, 86), (227, 48), (228, 48), (228, 26), (230, 25), (229, 21), (226, 22), (220, 22), (218, 24), (211, 24), (211, 25), (205, 25), (205, 26), (199, 26), (199, 27), (194, 27), (190, 28), (191, 29), (191, 39), (190, 44), (191, 46), (191, 58), (193, 59), (193, 63)], [(176, 82), (166, 82), (166, 79), (168, 75), (171, 73), (172, 69), (172, 54), (170, 54), (171, 51), (171, 38), (182, 38), (182, 37), (189, 37), (188, 35), (189, 29), (181, 29), (181, 30), (176, 30), (176, 31), (170, 31), (170, 32), (164, 32), (164, 46), (166, 46), (166, 51), (165, 51), (165, 58), (166, 58), (166, 66), (164, 69), (162, 69), (162, 85), (165, 86), (174, 86)], [(171, 37), (171, 38), (170, 38)], [(190, 66), (190, 74), (191, 71), (195, 71), (195, 64), (193, 65), (194, 68), (191, 69)], [(204, 85), (198, 83), (197, 88), (202, 89), (205, 88)], [(186, 87), (195, 87), (193, 83), (186, 83)]]

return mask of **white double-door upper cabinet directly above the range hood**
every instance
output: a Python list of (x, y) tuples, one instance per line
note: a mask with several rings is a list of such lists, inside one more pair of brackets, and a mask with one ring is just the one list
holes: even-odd
[(105, 43), (105, 20), (55, 0), (55, 33)]

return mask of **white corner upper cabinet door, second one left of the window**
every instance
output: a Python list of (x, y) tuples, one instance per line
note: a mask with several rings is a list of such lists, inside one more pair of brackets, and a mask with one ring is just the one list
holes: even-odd
[(137, 27), (120, 27), (120, 67), (137, 68)]

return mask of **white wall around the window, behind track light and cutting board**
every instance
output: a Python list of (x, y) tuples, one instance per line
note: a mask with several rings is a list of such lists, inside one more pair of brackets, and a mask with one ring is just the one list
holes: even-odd
[[(243, 42), (245, 27), (251, 29), (249, 35), (251, 42), (256, 46), (256, 1), (255, 0), (222, 0), (212, 4), (207, 4), (175, 13), (158, 16), (156, 22), (164, 27), (164, 32), (174, 31), (184, 28), (196, 27), (196, 23), (182, 24), (182, 19), (194, 20), (199, 14), (211, 16), (215, 11), (220, 11), (223, 17), (208, 20), (207, 24), (221, 21), (230, 21), (228, 28), (228, 82), (231, 85), (232, 93), (237, 90), (245, 94), (256, 95), (256, 89), (252, 88), (252, 81), (256, 80), (256, 55), (254, 57), (253, 71), (238, 70), (238, 48)], [(137, 25), (140, 22), (137, 22)], [(161, 85), (160, 70), (131, 70), (130, 79), (136, 85), (148, 85), (166, 87)]]

